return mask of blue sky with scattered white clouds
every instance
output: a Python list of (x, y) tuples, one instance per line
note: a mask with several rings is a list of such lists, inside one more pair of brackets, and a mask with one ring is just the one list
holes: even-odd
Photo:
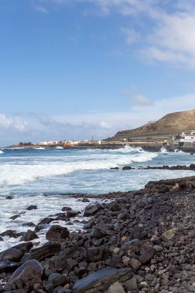
[(0, 146), (193, 108), (194, 0), (0, 0)]

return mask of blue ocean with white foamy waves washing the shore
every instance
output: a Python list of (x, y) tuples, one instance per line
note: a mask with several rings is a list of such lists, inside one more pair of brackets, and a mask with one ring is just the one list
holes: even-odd
[[(146, 152), (140, 147), (129, 145), (112, 150), (99, 149), (55, 149), (46, 148), (3, 148), (0, 149), (0, 233), (5, 230), (17, 232), (34, 230), (34, 227), (21, 226), (26, 222), (35, 225), (44, 217), (59, 213), (64, 206), (74, 210), (84, 210), (89, 203), (71, 198), (68, 194), (85, 193), (98, 195), (113, 191), (128, 191), (144, 188), (150, 180), (171, 179), (192, 176), (189, 170), (138, 170), (147, 166), (175, 166), (195, 163), (194, 156), (182, 151), (167, 153)], [(135, 170), (122, 170), (124, 166)], [(119, 167), (119, 170), (110, 169)], [(7, 196), (13, 199), (7, 200)], [(90, 199), (97, 202), (97, 199)], [(26, 211), (30, 205), (38, 209)], [(25, 211), (25, 213), (22, 213)], [(19, 215), (16, 220), (10, 219)], [(79, 216), (71, 225), (58, 221), (57, 224), (70, 231), (82, 229)], [(53, 223), (52, 223), (53, 224)], [(45, 231), (38, 233), (44, 242)], [(3, 237), (0, 251), (20, 241), (19, 238)]]

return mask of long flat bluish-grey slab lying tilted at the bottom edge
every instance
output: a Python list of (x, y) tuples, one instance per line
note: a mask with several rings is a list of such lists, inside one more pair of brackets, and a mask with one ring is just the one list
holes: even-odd
[(77, 293), (103, 292), (116, 282), (123, 283), (129, 280), (132, 275), (131, 269), (101, 269), (78, 280), (72, 290)]

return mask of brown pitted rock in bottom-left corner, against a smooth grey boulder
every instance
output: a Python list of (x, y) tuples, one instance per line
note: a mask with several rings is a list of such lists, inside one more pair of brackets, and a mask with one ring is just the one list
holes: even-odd
[(23, 289), (28, 292), (33, 289), (35, 283), (41, 284), (42, 281), (36, 274), (35, 269), (28, 266), (22, 270), (18, 277), (14, 278), (9, 284), (5, 285), (4, 291)]

